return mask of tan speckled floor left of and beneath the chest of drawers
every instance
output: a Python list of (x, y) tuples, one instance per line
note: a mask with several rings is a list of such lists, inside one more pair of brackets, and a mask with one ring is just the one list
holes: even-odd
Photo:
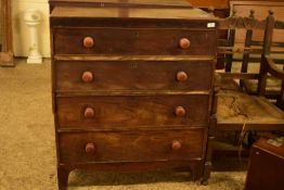
[[(0, 190), (55, 190), (50, 61), (0, 67)], [(230, 164), (216, 165), (230, 169)], [(70, 190), (241, 190), (246, 172), (212, 172), (208, 186), (171, 170), (114, 174), (75, 170)]]

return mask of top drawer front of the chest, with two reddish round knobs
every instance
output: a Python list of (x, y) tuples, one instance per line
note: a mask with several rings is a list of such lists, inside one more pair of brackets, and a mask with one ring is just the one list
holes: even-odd
[(56, 28), (53, 38), (55, 54), (216, 54), (216, 30)]

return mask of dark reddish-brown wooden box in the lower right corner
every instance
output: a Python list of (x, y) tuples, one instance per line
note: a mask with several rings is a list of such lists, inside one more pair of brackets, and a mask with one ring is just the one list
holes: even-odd
[[(284, 144), (275, 138), (271, 140), (263, 138), (253, 145), (245, 190), (283, 189)], [(273, 145), (275, 142), (280, 147)]]

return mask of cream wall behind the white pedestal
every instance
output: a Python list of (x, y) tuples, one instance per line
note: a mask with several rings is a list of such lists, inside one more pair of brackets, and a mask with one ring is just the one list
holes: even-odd
[(23, 20), (24, 11), (37, 9), (41, 14), (38, 27), (39, 50), (44, 58), (50, 58), (49, 3), (48, 0), (12, 0), (13, 48), (15, 56), (27, 56), (29, 47), (28, 27)]

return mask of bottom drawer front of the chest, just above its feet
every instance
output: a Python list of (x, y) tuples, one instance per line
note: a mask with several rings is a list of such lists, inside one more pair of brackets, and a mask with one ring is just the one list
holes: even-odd
[(204, 157), (206, 128), (60, 134), (60, 162), (147, 162)]

